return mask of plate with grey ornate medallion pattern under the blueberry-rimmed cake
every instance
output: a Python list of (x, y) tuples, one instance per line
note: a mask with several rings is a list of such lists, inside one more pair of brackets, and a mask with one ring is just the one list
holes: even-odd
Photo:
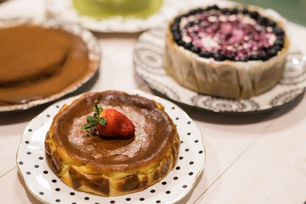
[(296, 49), (290, 49), (284, 76), (270, 91), (244, 100), (197, 93), (179, 85), (164, 69), (164, 42), (164, 28), (154, 28), (144, 32), (135, 44), (134, 68), (151, 89), (175, 102), (213, 112), (258, 113), (281, 107), (305, 91), (306, 56)]

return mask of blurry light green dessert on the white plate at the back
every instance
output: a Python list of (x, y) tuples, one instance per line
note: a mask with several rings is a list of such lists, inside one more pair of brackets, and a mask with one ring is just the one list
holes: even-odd
[(163, 0), (73, 0), (81, 15), (95, 19), (113, 16), (147, 18), (161, 7)]

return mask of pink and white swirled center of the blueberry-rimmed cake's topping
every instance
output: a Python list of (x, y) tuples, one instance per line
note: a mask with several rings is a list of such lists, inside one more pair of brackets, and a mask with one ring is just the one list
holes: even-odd
[(272, 27), (260, 25), (248, 15), (219, 10), (183, 17), (179, 29), (185, 43), (210, 53), (231, 54), (236, 60), (260, 55), (277, 39)]

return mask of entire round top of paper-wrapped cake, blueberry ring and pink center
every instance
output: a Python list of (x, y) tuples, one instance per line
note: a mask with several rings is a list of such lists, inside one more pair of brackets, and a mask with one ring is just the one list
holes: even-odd
[(284, 30), (246, 8), (195, 9), (177, 17), (171, 29), (178, 45), (217, 61), (264, 61), (284, 46)]

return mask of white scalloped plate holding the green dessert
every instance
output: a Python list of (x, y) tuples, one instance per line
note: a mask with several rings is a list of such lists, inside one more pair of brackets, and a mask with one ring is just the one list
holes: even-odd
[(96, 32), (125, 32), (133, 33), (153, 28), (170, 20), (185, 7), (185, 0), (163, 0), (159, 10), (147, 18), (122, 18), (113, 16), (98, 20), (85, 15), (79, 15), (72, 0), (46, 0), (48, 15), (69, 22), (80, 23), (82, 26)]

